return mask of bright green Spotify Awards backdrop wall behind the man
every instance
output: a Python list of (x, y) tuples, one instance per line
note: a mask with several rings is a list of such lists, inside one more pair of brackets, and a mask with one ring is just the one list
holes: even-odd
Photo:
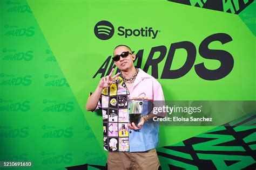
[[(0, 160), (32, 161), (34, 169), (65, 169), (84, 164), (88, 164), (87, 168), (104, 168), (107, 152), (103, 151), (102, 117), (100, 112), (85, 111), (84, 105), (100, 77), (113, 66), (107, 58), (119, 44), (129, 45), (135, 53), (143, 51), (139, 53), (142, 69), (146, 68), (153, 47), (166, 47), (166, 55), (158, 63), (158, 81), (166, 100), (255, 101), (255, 3), (243, 1), (248, 6), (235, 14), (228, 11), (228, 2), (223, 1), (226, 11), (217, 11), (201, 8), (203, 3), (199, 1), (185, 5), (168, 1), (1, 0)], [(114, 28), (113, 36), (107, 40), (97, 38), (94, 32), (95, 25), (102, 20)], [(156, 38), (125, 38), (118, 35), (120, 26), (131, 30), (152, 27), (158, 34)], [(218, 60), (205, 59), (199, 54), (201, 42), (216, 33), (228, 34), (232, 41), (226, 44), (213, 41), (208, 47), (230, 53), (234, 66), (222, 79), (205, 80), (197, 75), (194, 65), (204, 62), (208, 69), (220, 67)], [(192, 68), (178, 79), (161, 79), (171, 44), (181, 41), (190, 41), (196, 47)], [(177, 49), (171, 69), (182, 67), (186, 56), (184, 49)], [(154, 53), (153, 59), (158, 57), (159, 52)], [(100, 68), (104, 68), (103, 74), (96, 74)], [(149, 67), (147, 73), (152, 74), (152, 69)], [(246, 131), (249, 138), (245, 142), (246, 136), (238, 134), (249, 143), (241, 144), (249, 147), (244, 150), (244, 157), (242, 149), (233, 152), (236, 148), (232, 146), (239, 147), (240, 143), (227, 143), (219, 150), (213, 146), (217, 144), (214, 142), (201, 144), (200, 149), (183, 142), (193, 137), (215, 138), (219, 143), (237, 140), (231, 133), (226, 133), (226, 137), (221, 136), (225, 133), (219, 136), (205, 133), (228, 130), (225, 126), (161, 125), (158, 148), (161, 166), (197, 169), (200, 164), (193, 164), (192, 150), (197, 159), (212, 160), (211, 165), (217, 168), (253, 166), (255, 126), (248, 126), (253, 124), (234, 129)], [(176, 150), (190, 144), (191, 151)], [(204, 148), (224, 153), (196, 152)], [(224, 157), (234, 162), (224, 164)]]

